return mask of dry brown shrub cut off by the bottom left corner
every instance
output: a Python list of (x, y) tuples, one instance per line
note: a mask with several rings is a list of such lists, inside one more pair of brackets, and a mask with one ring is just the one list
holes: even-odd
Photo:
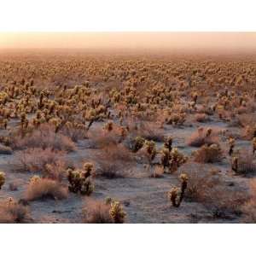
[(27, 207), (12, 198), (0, 201), (0, 223), (27, 223), (30, 221)]

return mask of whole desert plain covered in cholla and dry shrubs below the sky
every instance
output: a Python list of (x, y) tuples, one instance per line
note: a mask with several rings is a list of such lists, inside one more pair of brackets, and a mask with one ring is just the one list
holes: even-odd
[(0, 223), (254, 223), (256, 55), (0, 53)]

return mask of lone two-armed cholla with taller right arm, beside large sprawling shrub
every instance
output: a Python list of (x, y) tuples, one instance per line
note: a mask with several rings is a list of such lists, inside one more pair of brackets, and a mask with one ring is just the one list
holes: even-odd
[(180, 206), (181, 202), (183, 201), (185, 191), (188, 187), (189, 177), (187, 176), (187, 174), (181, 174), (179, 178), (181, 181), (180, 189), (174, 187), (168, 192), (168, 198), (172, 202), (173, 207)]

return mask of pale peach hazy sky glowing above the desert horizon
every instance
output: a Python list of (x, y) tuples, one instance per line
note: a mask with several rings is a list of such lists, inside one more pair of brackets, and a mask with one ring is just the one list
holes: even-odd
[(256, 49), (256, 32), (0, 32), (0, 48)]

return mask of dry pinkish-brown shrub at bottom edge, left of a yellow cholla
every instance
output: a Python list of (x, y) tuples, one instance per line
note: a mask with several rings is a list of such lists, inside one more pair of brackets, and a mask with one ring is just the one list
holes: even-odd
[(113, 224), (109, 210), (110, 205), (103, 201), (89, 201), (83, 209), (83, 222), (90, 224)]

